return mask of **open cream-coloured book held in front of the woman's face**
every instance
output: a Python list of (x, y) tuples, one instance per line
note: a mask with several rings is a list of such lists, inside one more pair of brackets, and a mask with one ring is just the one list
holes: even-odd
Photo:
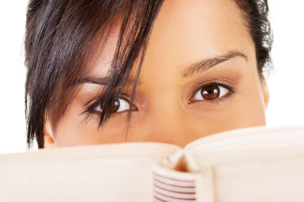
[(304, 127), (0, 155), (0, 201), (304, 201)]

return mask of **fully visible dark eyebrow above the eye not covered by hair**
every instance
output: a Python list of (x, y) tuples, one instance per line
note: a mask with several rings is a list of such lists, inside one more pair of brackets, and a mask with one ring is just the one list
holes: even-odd
[(234, 59), (234, 58), (243, 58), (248, 62), (248, 56), (240, 51), (229, 51), (224, 55), (216, 56), (214, 58), (204, 59), (199, 62), (193, 63), (187, 66), (182, 71), (183, 77), (190, 77), (197, 73), (205, 72), (208, 69), (215, 67), (225, 61)]

